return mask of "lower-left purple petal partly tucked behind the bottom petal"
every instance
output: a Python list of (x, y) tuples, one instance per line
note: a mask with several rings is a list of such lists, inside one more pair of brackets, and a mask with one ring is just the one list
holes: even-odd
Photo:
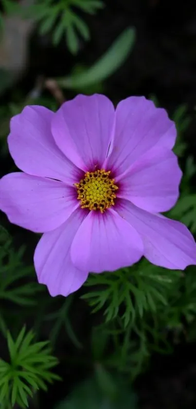
[(85, 214), (75, 211), (53, 232), (43, 234), (38, 242), (34, 263), (38, 281), (46, 284), (52, 296), (67, 296), (78, 290), (88, 277), (87, 271), (73, 266), (70, 256), (71, 242)]

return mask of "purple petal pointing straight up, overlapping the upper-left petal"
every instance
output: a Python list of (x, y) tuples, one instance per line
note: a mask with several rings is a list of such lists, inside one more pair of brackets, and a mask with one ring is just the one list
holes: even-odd
[(114, 107), (104, 95), (78, 95), (53, 117), (52, 132), (61, 151), (79, 168), (104, 162), (112, 136)]

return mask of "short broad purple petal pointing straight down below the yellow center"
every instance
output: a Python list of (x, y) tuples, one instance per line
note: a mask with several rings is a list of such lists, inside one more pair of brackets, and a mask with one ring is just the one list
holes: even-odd
[(143, 254), (141, 237), (113, 210), (90, 212), (71, 245), (73, 264), (93, 273), (113, 271), (136, 263)]

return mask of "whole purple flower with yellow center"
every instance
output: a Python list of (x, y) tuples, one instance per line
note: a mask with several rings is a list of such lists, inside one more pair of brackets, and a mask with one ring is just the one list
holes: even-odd
[(168, 269), (196, 264), (188, 229), (159, 214), (178, 198), (175, 138), (165, 110), (144, 97), (115, 110), (103, 95), (79, 95), (56, 113), (27, 106), (12, 118), (9, 150), (24, 173), (2, 177), (0, 208), (44, 233), (34, 262), (51, 295), (143, 255)]

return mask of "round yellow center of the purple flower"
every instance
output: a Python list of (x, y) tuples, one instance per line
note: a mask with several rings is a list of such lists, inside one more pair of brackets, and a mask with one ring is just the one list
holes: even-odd
[(79, 183), (74, 183), (82, 209), (100, 210), (104, 213), (110, 206), (114, 206), (118, 186), (114, 184), (114, 179), (109, 177), (110, 173), (104, 169), (86, 172)]

